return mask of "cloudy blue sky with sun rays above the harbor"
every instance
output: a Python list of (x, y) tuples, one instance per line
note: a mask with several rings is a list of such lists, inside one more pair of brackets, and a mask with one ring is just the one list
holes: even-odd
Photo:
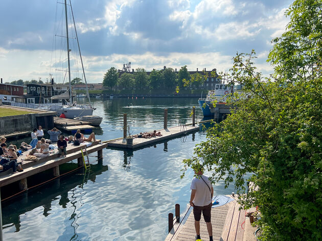
[[(59, 68), (55, 65), (66, 64), (65, 57), (57, 57), (61, 48), (66, 49), (66, 35), (59, 28), (65, 24), (60, 21), (64, 17), (61, 2), (0, 2), (0, 77), (4, 82), (39, 78), (45, 81), (50, 73), (64, 73), (56, 71)], [(258, 70), (268, 75), (273, 70), (266, 62), (271, 40), (285, 32), (289, 19), (284, 12), (291, 3), (72, 0), (72, 7), (87, 82), (101, 83), (109, 68), (122, 69), (123, 63), (128, 62), (131, 69), (146, 71), (164, 66), (179, 70), (187, 65), (191, 71), (216, 68), (217, 72), (225, 72), (232, 67), (237, 52), (249, 53), (251, 49), (257, 53)], [(72, 29), (69, 23), (68, 29)], [(55, 34), (64, 37), (54, 37)], [(71, 42), (75, 42), (73, 36), (70, 34)], [(71, 51), (72, 57), (75, 53)], [(80, 70), (79, 67), (77, 76), (82, 78)], [(72, 78), (75, 74), (72, 72)]]

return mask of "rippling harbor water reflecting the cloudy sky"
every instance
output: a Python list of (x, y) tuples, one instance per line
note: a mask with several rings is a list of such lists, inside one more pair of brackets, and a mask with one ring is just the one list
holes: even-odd
[[(101, 140), (123, 136), (125, 113), (131, 134), (162, 129), (164, 109), (168, 109), (168, 127), (191, 123), (192, 106), (196, 106), (196, 120), (202, 119), (197, 98), (91, 100), (97, 108), (94, 115), (103, 117), (101, 128), (95, 130)], [(174, 213), (176, 203), (185, 211), (190, 199), (193, 172), (180, 179), (182, 159), (193, 155), (205, 135), (200, 128), (135, 151), (104, 149), (102, 163), (89, 157), (94, 162), (89, 171), (64, 175), (5, 200), (4, 240), (164, 240), (168, 213)], [(61, 173), (77, 168), (76, 163), (62, 165)], [(39, 175), (35, 183), (42, 178), (49, 179)], [(220, 182), (214, 191), (216, 195), (234, 190), (224, 189)]]

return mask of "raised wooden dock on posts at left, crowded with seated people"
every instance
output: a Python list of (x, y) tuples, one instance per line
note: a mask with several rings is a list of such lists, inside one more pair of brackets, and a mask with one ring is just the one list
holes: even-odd
[[(103, 149), (107, 147), (107, 144), (100, 143), (100, 140), (91, 143), (90, 146), (86, 148), (87, 154), (98, 152), (98, 159), (103, 157)], [(71, 160), (77, 159), (78, 166), (83, 166), (83, 157), (81, 150), (85, 150), (85, 145), (74, 146), (72, 144), (67, 144), (66, 157), (59, 158), (58, 150), (50, 154), (50, 156), (40, 158), (38, 161), (24, 160), (22, 162), (23, 172), (10, 173), (2, 175), (0, 177), (0, 187), (8, 185), (13, 182), (19, 182), (20, 190), (28, 189), (27, 177), (33, 176), (40, 172), (52, 169), (53, 176), (59, 176), (59, 165), (70, 162)], [(18, 157), (18, 162), (21, 162), (22, 158), (25, 158), (29, 151), (24, 152), (24, 155)]]

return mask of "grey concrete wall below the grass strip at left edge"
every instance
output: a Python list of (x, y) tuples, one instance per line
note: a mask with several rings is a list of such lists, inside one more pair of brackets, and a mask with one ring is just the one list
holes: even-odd
[(37, 127), (34, 114), (0, 117), (0, 135), (32, 131)]

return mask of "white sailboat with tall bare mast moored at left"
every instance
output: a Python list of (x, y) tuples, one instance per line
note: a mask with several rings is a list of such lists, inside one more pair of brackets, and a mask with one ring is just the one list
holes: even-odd
[[(75, 29), (75, 39), (77, 40), (77, 46), (78, 46), (78, 51), (79, 51), (79, 57), (81, 61), (81, 66), (82, 66), (82, 72), (84, 76), (84, 81), (86, 84), (86, 96), (89, 100), (89, 106), (87, 105), (80, 105), (77, 104), (76, 101), (73, 101), (73, 93), (72, 93), (72, 85), (71, 85), (71, 59), (70, 59), (70, 37), (68, 36), (68, 19), (67, 19), (67, 3), (66, 0), (64, 0), (64, 7), (65, 7), (65, 23), (66, 23), (66, 36), (60, 36), (58, 34), (55, 34), (56, 36), (59, 37), (65, 37), (66, 38), (66, 52), (67, 52), (67, 63), (68, 63), (68, 69), (65, 71), (65, 73), (68, 73), (68, 80), (69, 80), (69, 91), (66, 91), (62, 94), (52, 96), (52, 100), (57, 100), (57, 99), (65, 99), (64, 104), (58, 104), (58, 103), (52, 103), (47, 106), (42, 106), (39, 109), (45, 109), (45, 110), (51, 110), (57, 112), (58, 116), (61, 114), (64, 114), (66, 118), (68, 119), (73, 119), (77, 117), (82, 117), (82, 116), (90, 116), (93, 115), (93, 111), (96, 110), (91, 105), (90, 98), (89, 98), (89, 93), (88, 93), (88, 87), (87, 87), (87, 82), (86, 82), (86, 75), (84, 71), (84, 66), (83, 66), (83, 60), (82, 60), (82, 55), (80, 51), (80, 46), (79, 46), (79, 41), (78, 41), (78, 36), (77, 36), (77, 31), (76, 31), (76, 25), (75, 25), (75, 20), (74, 20), (74, 14), (73, 14), (73, 8), (72, 8), (72, 3), (71, 1), (68, 4), (71, 8), (71, 15), (73, 17), (73, 24), (74, 24), (74, 29)], [(62, 70), (57, 70), (56, 71), (62, 71)], [(66, 75), (66, 74), (65, 74)], [(51, 81), (53, 82), (52, 74), (50, 74)], [(67, 101), (68, 99), (68, 101)]]

